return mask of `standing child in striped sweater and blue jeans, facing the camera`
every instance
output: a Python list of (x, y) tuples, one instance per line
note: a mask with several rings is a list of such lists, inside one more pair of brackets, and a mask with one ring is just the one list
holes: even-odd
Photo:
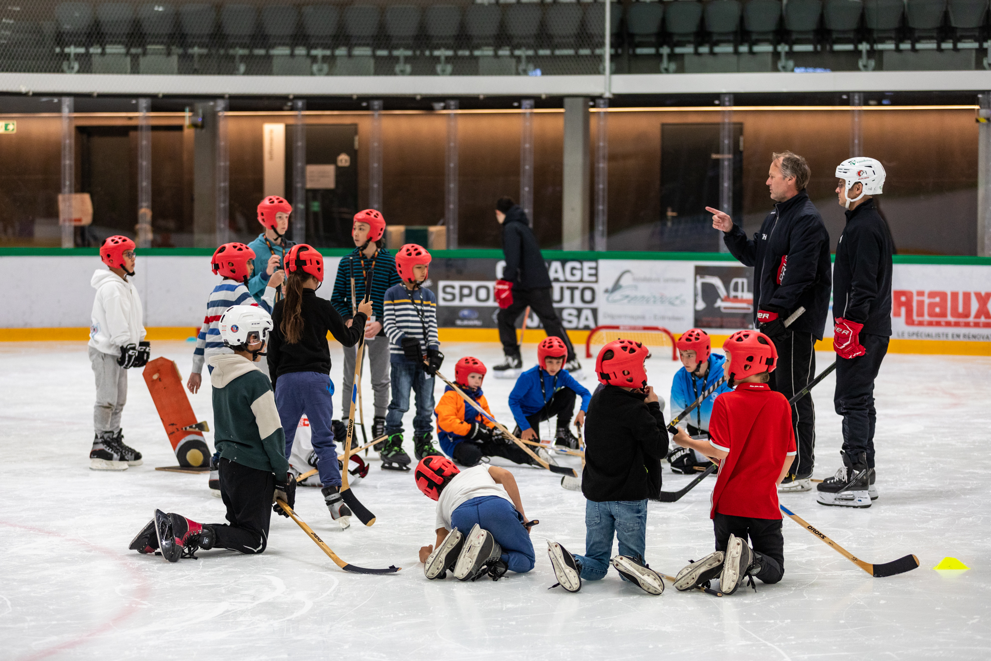
[(416, 393), (413, 417), (413, 449), (417, 461), (440, 452), (431, 442), (434, 409), (434, 374), (444, 361), (437, 339), (437, 297), (424, 288), (430, 253), (406, 244), (395, 255), (395, 270), (402, 279), (385, 291), (385, 335), (388, 336), (392, 400), (385, 414), (385, 435), (380, 450), (382, 467), (408, 471), (409, 455), (402, 450), (402, 415), (409, 410), (409, 390)]

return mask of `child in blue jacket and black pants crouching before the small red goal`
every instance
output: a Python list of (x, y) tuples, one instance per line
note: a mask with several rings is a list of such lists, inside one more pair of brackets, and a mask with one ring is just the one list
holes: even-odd
[(537, 367), (519, 375), (509, 393), (509, 409), (516, 419), (514, 436), (524, 441), (539, 441), (534, 426), (556, 415), (554, 443), (578, 448), (578, 439), (568, 429), (568, 423), (575, 414), (575, 396), (578, 395), (582, 397), (582, 406), (575, 416), (575, 426), (582, 426), (592, 393), (563, 369), (567, 357), (568, 347), (561, 338), (550, 336), (537, 346)]

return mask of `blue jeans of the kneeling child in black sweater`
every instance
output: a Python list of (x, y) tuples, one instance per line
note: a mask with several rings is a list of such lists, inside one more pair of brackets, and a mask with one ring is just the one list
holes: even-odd
[(644, 547), (647, 545), (647, 501), (585, 501), (586, 555), (576, 553), (575, 559), (582, 565), (582, 578), (586, 581), (601, 581), (606, 578), (609, 560), (612, 558), (613, 532), (619, 540), (619, 555), (627, 555), (642, 562)]

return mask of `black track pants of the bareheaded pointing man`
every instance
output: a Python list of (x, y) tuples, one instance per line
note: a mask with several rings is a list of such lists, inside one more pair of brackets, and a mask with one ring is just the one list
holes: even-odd
[[(788, 332), (774, 339), (778, 350), (778, 368), (771, 373), (772, 390), (789, 399), (816, 378), (816, 338), (812, 333)], [(808, 477), (816, 464), (816, 407), (812, 393), (792, 406), (792, 427), (798, 454), (791, 473)]]

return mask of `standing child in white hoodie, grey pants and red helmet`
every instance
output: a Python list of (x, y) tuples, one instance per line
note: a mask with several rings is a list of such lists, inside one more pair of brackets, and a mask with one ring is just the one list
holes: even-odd
[(124, 444), (121, 412), (127, 401), (127, 370), (148, 363), (152, 349), (145, 342), (141, 298), (128, 281), (134, 275), (135, 245), (113, 236), (100, 245), (100, 259), (109, 271), (97, 270), (89, 283), (96, 289), (89, 326), (89, 362), (96, 376), (93, 406), (93, 449), (89, 468), (125, 471), (141, 465), (141, 453)]

